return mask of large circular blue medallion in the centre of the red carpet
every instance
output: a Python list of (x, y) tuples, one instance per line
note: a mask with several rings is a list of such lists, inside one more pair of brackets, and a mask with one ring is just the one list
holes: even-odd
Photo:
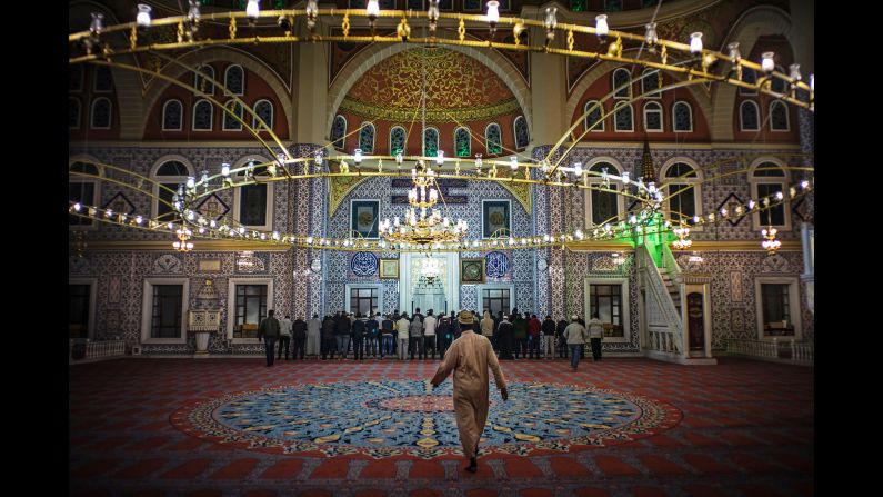
[[(621, 444), (675, 426), (674, 407), (582, 385), (513, 381), (509, 400), (491, 385), (483, 454), (573, 451)], [(462, 454), (452, 384), (342, 381), (284, 385), (228, 394), (182, 407), (172, 424), (184, 433), (252, 449), (327, 456)]]

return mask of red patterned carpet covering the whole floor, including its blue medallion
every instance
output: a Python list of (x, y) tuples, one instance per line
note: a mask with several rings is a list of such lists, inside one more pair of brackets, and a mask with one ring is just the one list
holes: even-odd
[(472, 475), (437, 365), (71, 367), (71, 495), (813, 495), (810, 368), (504, 361)]

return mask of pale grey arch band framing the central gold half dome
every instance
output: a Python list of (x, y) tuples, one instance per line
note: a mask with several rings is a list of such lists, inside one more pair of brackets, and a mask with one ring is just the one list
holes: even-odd
[[(409, 43), (375, 43), (350, 59), (328, 89), (325, 122), (331, 122), (343, 98), (362, 74), (384, 59), (413, 48)], [(469, 56), (491, 69), (515, 96), (528, 122), (533, 122), (530, 88), (524, 81), (524, 77), (509, 59), (495, 51), (479, 50), (472, 47), (445, 46), (444, 48)]]

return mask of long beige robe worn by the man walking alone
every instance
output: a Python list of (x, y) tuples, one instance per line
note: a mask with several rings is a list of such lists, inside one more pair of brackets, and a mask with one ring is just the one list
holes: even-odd
[(454, 411), (460, 443), (466, 457), (475, 455), (475, 448), (488, 421), (488, 367), (493, 371), (496, 388), (505, 388), (505, 378), (500, 362), (493, 352), (491, 341), (474, 331), (463, 334), (451, 344), (444, 360), (432, 377), (432, 382), (441, 384), (451, 371), (454, 372)]

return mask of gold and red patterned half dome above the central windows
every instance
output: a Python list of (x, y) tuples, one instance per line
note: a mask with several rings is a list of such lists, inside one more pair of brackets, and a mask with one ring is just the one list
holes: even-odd
[(515, 96), (491, 69), (445, 48), (407, 50), (362, 74), (340, 109), (367, 119), (420, 121), (425, 63), (427, 122), (493, 119), (518, 112)]

